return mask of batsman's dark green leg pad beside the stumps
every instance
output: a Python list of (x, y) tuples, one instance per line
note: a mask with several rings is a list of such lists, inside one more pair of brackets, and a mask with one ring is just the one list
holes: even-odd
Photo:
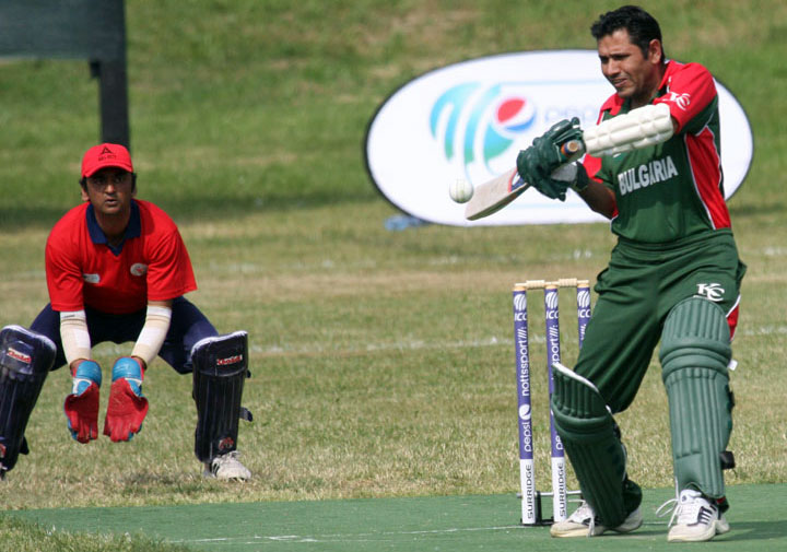
[(642, 502), (639, 488), (626, 479), (618, 426), (592, 383), (557, 363), (553, 368), (555, 428), (584, 498), (603, 526), (615, 528)]

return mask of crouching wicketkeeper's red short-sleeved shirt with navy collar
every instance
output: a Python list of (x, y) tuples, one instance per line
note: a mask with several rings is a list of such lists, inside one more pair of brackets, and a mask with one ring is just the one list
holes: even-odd
[(46, 275), (54, 310), (85, 306), (110, 314), (144, 308), (197, 289), (191, 260), (173, 220), (148, 201), (133, 200), (126, 239), (111, 248), (93, 207), (71, 209), (46, 244)]

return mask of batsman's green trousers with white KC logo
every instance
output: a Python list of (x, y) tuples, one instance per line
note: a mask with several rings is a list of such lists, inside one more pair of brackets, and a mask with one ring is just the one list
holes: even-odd
[(620, 239), (597, 279), (598, 300), (574, 371), (592, 381), (612, 409), (634, 400), (661, 337), (667, 315), (680, 301), (702, 296), (738, 319), (745, 265), (728, 230), (669, 245)]

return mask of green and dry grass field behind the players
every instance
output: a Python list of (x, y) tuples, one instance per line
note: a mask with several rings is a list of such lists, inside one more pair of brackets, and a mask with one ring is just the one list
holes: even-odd
[[(604, 224), (389, 233), (396, 211), (366, 174), (365, 129), (392, 90), (442, 64), (592, 48), (589, 24), (616, 4), (128, 2), (140, 197), (180, 224), (200, 284), (191, 298), (221, 330), (249, 331), (244, 402), (256, 421), (242, 426), (240, 449), (256, 478), (200, 478), (190, 380), (163, 363), (146, 376), (144, 431), (121, 445), (68, 437), (69, 375), (58, 371), (31, 420), (32, 454), (2, 485), (3, 508), (514, 493), (510, 285), (592, 279), (613, 238)], [(730, 202), (749, 274), (728, 481), (784, 482), (787, 5), (756, 2), (756, 22), (732, 1), (645, 7), (668, 55), (705, 63), (753, 128), (754, 163)], [(79, 201), (80, 155), (97, 139), (96, 83), (86, 63), (62, 60), (0, 61), (0, 324), (28, 325), (47, 301), (47, 233)], [(103, 345), (99, 360), (128, 347)], [(535, 386), (547, 486), (545, 380)], [(666, 416), (654, 364), (620, 419), (645, 486), (671, 484)], [(10, 530), (44, 542), (0, 526)]]

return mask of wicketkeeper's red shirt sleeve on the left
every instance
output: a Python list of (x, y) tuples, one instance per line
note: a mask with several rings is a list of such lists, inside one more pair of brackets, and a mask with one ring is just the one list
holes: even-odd
[(84, 308), (82, 269), (78, 262), (79, 255), (75, 254), (74, 243), (80, 228), (70, 224), (73, 221), (71, 215), (72, 213), (67, 214), (55, 225), (45, 249), (47, 289), (55, 310)]

